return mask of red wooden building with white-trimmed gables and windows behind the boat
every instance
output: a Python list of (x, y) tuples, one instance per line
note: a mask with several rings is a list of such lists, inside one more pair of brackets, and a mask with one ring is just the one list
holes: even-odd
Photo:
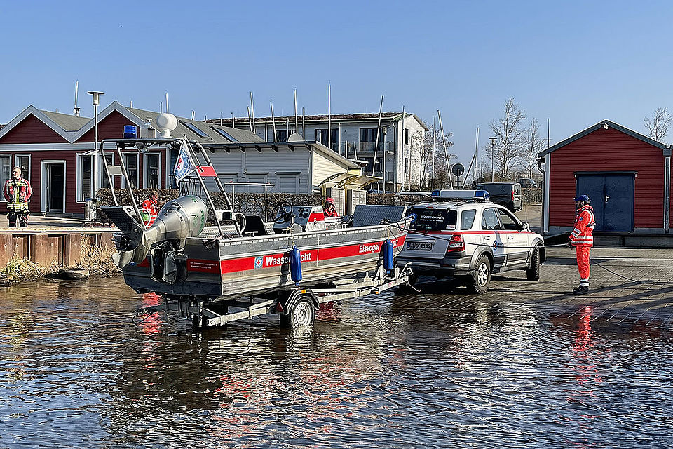
[[(112, 102), (98, 114), (98, 141), (123, 138), (125, 125), (135, 125), (141, 135), (151, 133), (150, 137), (154, 137), (154, 129), (148, 130), (147, 124), (158, 115)], [(95, 196), (95, 189), (107, 187), (102, 161), (93, 152), (94, 133), (93, 119), (27, 107), (0, 129), (0, 188), (11, 176), (11, 169), (20, 166), (33, 189), (31, 212), (83, 214), (86, 201)], [(178, 127), (172, 135), (183, 134), (191, 140), (209, 142), (259, 140), (247, 131), (204, 126), (178, 117)], [(114, 150), (114, 145), (105, 148)], [(125, 165), (135, 180), (133, 184), (140, 188), (170, 187), (176, 157), (174, 149), (161, 146), (143, 153), (135, 149), (123, 152)], [(108, 159), (114, 165), (119, 164), (112, 152)], [(121, 177), (115, 177), (114, 185), (125, 187)], [(0, 212), (4, 211), (6, 202), (0, 198)]]

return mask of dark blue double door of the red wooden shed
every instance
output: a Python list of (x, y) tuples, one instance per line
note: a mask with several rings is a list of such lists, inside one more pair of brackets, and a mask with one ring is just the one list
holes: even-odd
[(596, 215), (596, 231), (633, 231), (635, 175), (577, 175), (577, 194), (588, 195)]

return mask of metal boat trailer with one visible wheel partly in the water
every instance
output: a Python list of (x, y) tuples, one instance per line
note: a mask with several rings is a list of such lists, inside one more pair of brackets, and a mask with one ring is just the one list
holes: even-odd
[(395, 267), (386, 272), (383, 265), (379, 264), (374, 273), (365, 272), (350, 279), (332, 281), (325, 284), (325, 288), (296, 286), (234, 300), (165, 295), (163, 304), (142, 307), (135, 311), (135, 315), (177, 311), (180, 318), (192, 320), (195, 330), (267, 314), (277, 314), (280, 325), (285, 328), (310, 327), (320, 304), (379, 295), (389, 288), (407, 284), (412, 274), (409, 267)]

